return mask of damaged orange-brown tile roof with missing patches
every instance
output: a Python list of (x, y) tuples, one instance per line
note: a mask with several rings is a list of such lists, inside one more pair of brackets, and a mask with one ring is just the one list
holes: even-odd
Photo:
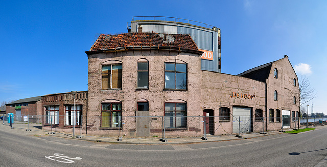
[(89, 51), (124, 47), (175, 47), (199, 51), (188, 34), (159, 33), (101, 34)]

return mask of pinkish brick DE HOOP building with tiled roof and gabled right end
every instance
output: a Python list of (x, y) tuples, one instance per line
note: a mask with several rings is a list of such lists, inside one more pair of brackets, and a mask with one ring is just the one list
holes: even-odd
[(161, 33), (100, 35), (85, 53), (88, 133), (219, 135), (237, 133), (239, 120), (242, 133), (295, 126), (298, 83), (287, 56), (237, 76), (206, 71), (189, 35)]

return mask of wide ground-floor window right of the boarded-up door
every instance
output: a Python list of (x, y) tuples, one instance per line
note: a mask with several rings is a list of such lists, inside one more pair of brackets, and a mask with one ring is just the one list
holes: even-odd
[(186, 128), (186, 116), (186, 103), (165, 102), (165, 128)]

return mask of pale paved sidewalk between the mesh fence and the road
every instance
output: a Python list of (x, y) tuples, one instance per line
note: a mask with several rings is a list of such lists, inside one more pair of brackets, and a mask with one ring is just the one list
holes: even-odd
[[(28, 124), (13, 124), (14, 129), (11, 129), (8, 123), (4, 125), (0, 124), (0, 128), (6, 130), (8, 132), (13, 132), (17, 134), (22, 134), (26, 136), (55, 136), (62, 137), (67, 139), (77, 139), (84, 141), (93, 141), (93, 142), (109, 142), (116, 144), (190, 144), (190, 143), (199, 143), (199, 142), (217, 142), (217, 141), (230, 141), (230, 140), (242, 140), (249, 138), (256, 138), (268, 135), (279, 134), (282, 132), (279, 131), (267, 131), (266, 134), (260, 133), (249, 133), (249, 134), (241, 134), (242, 138), (236, 137), (236, 135), (222, 135), (222, 136), (207, 136), (207, 140), (203, 140), (202, 137), (193, 137), (193, 138), (166, 138), (167, 142), (160, 141), (159, 138), (124, 138), (122, 137), (121, 141), (118, 141), (118, 137), (99, 137), (99, 136), (87, 136), (77, 138), (79, 136), (79, 131), (76, 131), (75, 138), (73, 138), (72, 133), (63, 133), (63, 132), (55, 132), (55, 134), (48, 134), (51, 131), (41, 130), (41, 124), (30, 124), (29, 129), (31, 131), (27, 131)], [(304, 126), (303, 126), (304, 127)], [(302, 127), (302, 128), (303, 128)], [(311, 128), (311, 126), (310, 126)], [(317, 126), (315, 127), (317, 130), (321, 128), (325, 128), (325, 126)], [(293, 130), (293, 129), (289, 129)], [(288, 130), (286, 130), (288, 131)]]

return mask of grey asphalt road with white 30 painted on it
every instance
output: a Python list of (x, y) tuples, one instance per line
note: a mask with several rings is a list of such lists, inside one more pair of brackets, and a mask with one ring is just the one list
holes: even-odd
[(326, 138), (322, 128), (224, 142), (133, 145), (0, 128), (0, 166), (315, 166), (327, 156)]

